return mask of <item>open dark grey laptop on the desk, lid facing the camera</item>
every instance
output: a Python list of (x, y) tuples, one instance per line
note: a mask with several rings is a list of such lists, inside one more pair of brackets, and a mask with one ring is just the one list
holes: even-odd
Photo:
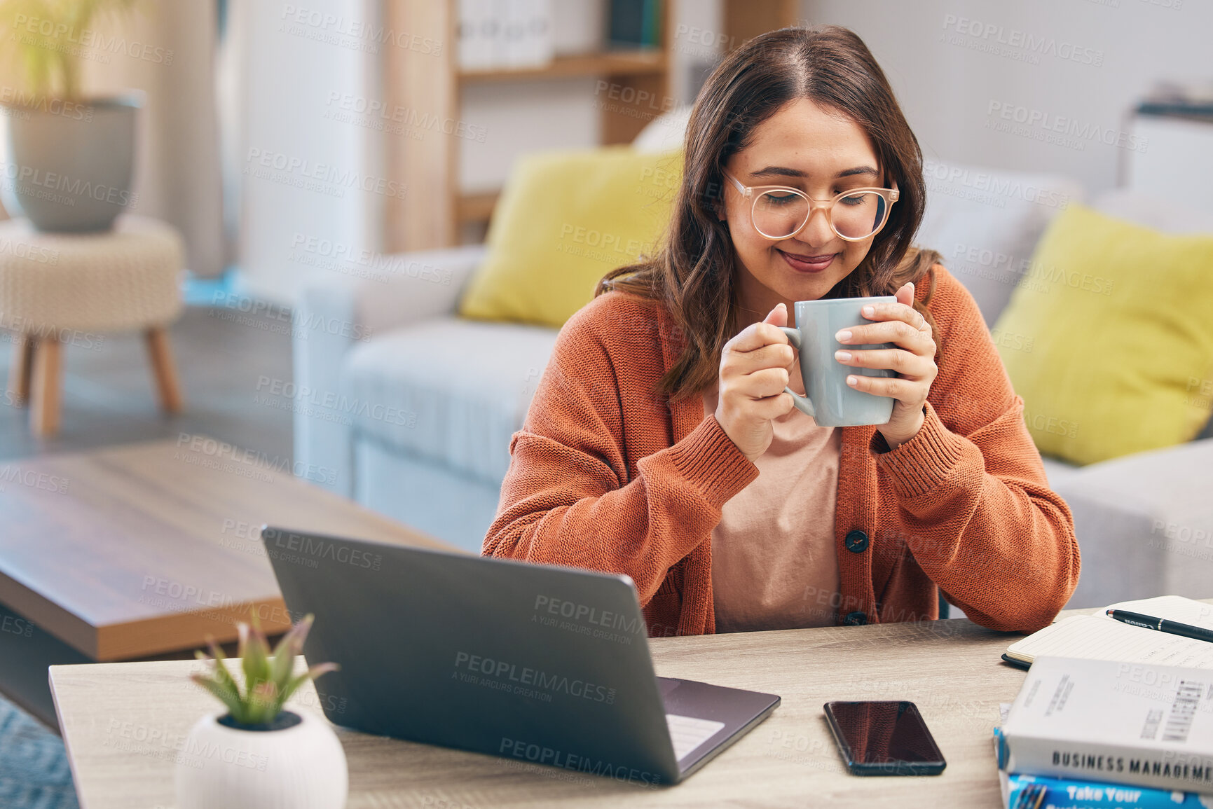
[(656, 677), (632, 580), (263, 526), (334, 724), (676, 784), (780, 699)]

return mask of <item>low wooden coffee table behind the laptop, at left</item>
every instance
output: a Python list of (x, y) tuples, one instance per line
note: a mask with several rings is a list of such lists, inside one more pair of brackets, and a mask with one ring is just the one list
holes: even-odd
[(201, 435), (0, 462), (0, 691), (56, 728), (50, 665), (188, 656), (290, 626), (263, 523), (455, 548)]

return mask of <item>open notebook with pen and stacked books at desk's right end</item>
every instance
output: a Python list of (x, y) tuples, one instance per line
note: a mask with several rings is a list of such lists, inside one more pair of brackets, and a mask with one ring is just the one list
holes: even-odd
[(1008, 809), (1213, 805), (1213, 643), (1195, 637), (1213, 609), (1173, 596), (1114, 608), (1197, 631), (1100, 610), (1013, 644), (1031, 668), (995, 730)]

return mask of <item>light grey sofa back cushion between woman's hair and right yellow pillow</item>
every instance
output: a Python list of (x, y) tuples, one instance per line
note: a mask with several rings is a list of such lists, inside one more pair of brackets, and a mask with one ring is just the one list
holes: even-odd
[(1029, 268), (1046, 226), (1071, 201), (1077, 181), (927, 160), (927, 212), (917, 244), (938, 250), (992, 326)]

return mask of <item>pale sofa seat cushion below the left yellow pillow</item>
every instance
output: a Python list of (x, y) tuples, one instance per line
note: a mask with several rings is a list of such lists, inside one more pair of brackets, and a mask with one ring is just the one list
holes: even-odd
[(341, 403), (360, 437), (500, 485), (556, 329), (448, 317), (351, 349)]

